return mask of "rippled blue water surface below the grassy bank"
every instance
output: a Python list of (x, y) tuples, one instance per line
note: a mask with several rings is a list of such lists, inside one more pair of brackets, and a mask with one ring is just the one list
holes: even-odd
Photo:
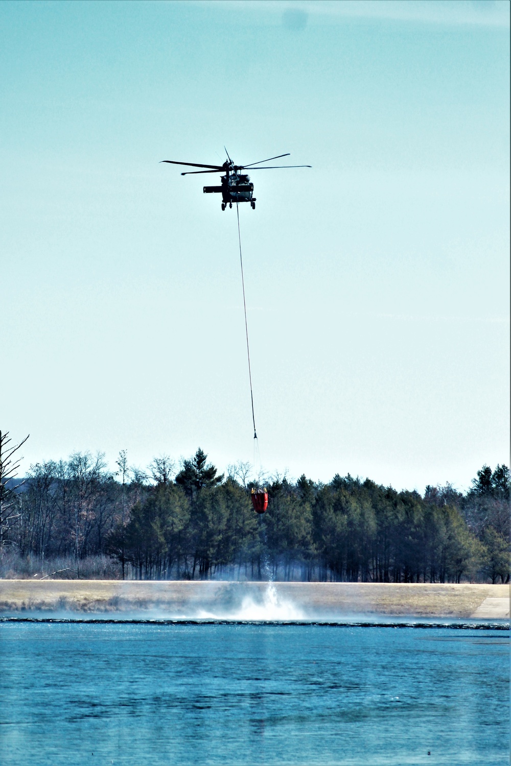
[(5, 766), (509, 763), (504, 630), (5, 622), (0, 663)]

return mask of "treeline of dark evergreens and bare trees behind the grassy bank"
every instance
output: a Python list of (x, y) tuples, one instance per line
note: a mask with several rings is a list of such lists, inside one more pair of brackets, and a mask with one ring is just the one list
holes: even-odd
[(17, 489), (6, 483), (0, 550), (20, 561), (67, 557), (77, 576), (107, 556), (116, 576), (134, 579), (509, 581), (506, 466), (483, 466), (466, 494), (447, 484), (423, 496), (349, 474), (325, 484), (277, 476), (262, 516), (246, 464), (219, 476), (199, 449), (177, 472), (168, 457), (148, 474), (130, 469), (125, 452), (117, 466), (113, 474), (103, 455), (75, 453), (31, 466)]

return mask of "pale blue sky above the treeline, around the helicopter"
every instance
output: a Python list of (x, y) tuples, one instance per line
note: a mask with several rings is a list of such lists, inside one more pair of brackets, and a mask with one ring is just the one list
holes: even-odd
[[(509, 460), (508, 2), (3, 2), (2, 428), (29, 463)], [(206, 177), (206, 178), (210, 178)], [(215, 176), (213, 176), (215, 178)]]

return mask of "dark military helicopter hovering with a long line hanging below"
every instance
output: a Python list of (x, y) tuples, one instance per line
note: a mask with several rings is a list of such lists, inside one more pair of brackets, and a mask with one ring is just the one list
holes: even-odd
[(225, 153), (228, 159), (223, 165), (200, 165), (198, 162), (177, 162), (175, 159), (162, 159), (162, 162), (169, 162), (170, 165), (188, 165), (192, 168), (207, 168), (207, 170), (188, 170), (181, 175), (198, 175), (199, 173), (225, 173), (221, 177), (221, 186), (205, 186), (203, 191), (205, 194), (221, 194), (222, 203), (221, 208), (225, 210), (226, 205), (232, 208), (233, 202), (250, 202), (251, 208), (255, 210), (256, 198), (254, 197), (254, 184), (251, 183), (249, 175), (242, 174), (241, 170), (251, 168), (252, 170), (274, 170), (277, 168), (310, 168), (312, 165), (264, 165), (262, 167), (255, 167), (260, 165), (261, 162), (270, 162), (272, 159), (280, 159), (280, 157), (289, 157), (290, 152), (287, 154), (279, 154), (277, 157), (268, 157), (268, 159), (260, 159), (259, 162), (250, 162), (248, 165), (234, 165), (234, 162), (229, 157), (227, 149)]

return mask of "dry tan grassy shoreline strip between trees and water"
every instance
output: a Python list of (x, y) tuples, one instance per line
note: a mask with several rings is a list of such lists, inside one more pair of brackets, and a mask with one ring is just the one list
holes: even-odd
[(505, 620), (509, 618), (509, 594), (509, 584), (0, 580), (0, 614)]

